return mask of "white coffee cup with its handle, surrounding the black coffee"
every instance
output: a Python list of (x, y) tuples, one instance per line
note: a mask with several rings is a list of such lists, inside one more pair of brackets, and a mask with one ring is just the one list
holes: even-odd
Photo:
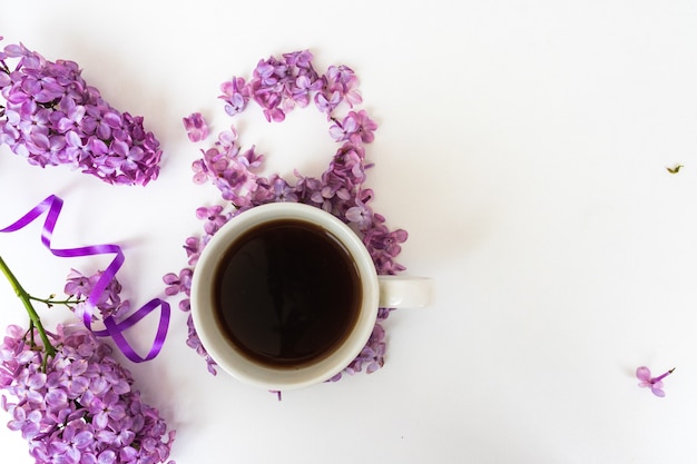
[[(224, 333), (215, 314), (215, 275), (226, 250), (246, 231), (264, 223), (293, 219), (318, 226), (348, 251), (359, 274), (357, 320), (343, 343), (316, 363), (297, 367), (269, 366), (245, 355)], [(202, 344), (220, 368), (235, 378), (265, 389), (288, 391), (322, 383), (343, 371), (361, 353), (373, 330), (379, 307), (426, 306), (432, 282), (423, 277), (377, 276), (360, 237), (333, 215), (313, 206), (273, 203), (240, 213), (224, 225), (202, 253), (192, 283), (192, 316)]]

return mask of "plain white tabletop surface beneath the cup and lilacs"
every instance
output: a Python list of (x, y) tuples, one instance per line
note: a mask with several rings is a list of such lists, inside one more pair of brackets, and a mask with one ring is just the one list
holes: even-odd
[[(120, 277), (136, 300), (161, 294), (198, 230), (195, 208), (217, 199), (190, 181), (198, 147), (181, 117), (200, 110), (225, 127), (223, 80), (310, 48), (320, 68), (354, 68), (380, 124), (369, 147), (375, 208), (409, 230), (400, 260), (434, 278), (435, 304), (391, 316), (382, 371), (283, 402), (209, 376), (176, 312), (163, 355), (131, 369), (178, 431), (178, 464), (696, 461), (694, 2), (3, 0), (0, 10), (6, 42), (77, 61), (163, 142), (161, 177), (145, 189), (41, 170), (0, 148), (1, 221), (60, 195), (56, 245), (124, 245)], [(317, 154), (334, 150), (326, 125), (296, 115), (243, 137), (269, 169), (318, 172)], [(50, 257), (38, 230), (0, 236), (0, 249), (28, 289), (59, 292), (87, 264)], [(0, 325), (23, 320), (8, 285), (0, 298)], [(641, 364), (677, 368), (665, 398), (636, 386)], [(30, 462), (3, 426), (0, 447), (2, 462)]]

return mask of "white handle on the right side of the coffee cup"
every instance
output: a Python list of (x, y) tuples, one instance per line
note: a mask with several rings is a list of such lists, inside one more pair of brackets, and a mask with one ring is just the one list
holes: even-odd
[(381, 308), (422, 308), (433, 299), (433, 282), (426, 277), (377, 276)]

